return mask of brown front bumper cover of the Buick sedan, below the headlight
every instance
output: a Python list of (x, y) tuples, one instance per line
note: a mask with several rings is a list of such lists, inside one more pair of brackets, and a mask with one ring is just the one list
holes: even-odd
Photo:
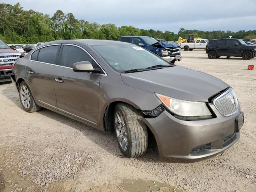
[(168, 111), (156, 118), (142, 119), (156, 138), (160, 158), (168, 162), (191, 163), (208, 159), (224, 152), (240, 138), (235, 119), (222, 116), (210, 105), (216, 118), (186, 121), (172, 116)]

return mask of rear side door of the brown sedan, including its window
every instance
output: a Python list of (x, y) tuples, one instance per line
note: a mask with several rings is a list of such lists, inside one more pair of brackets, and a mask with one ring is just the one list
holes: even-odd
[(26, 65), (31, 92), (37, 102), (56, 108), (53, 72), (60, 45), (46, 46), (34, 51)]

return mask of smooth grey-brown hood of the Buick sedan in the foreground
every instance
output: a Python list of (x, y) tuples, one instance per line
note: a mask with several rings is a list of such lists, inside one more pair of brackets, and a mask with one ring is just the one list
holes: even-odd
[(208, 98), (228, 88), (222, 80), (180, 66), (121, 74), (124, 84), (173, 98), (208, 102)]

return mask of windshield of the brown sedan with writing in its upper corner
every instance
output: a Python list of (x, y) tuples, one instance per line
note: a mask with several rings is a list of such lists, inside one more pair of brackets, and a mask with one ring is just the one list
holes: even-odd
[(94, 50), (115, 70), (119, 72), (144, 69), (155, 65), (171, 64), (152, 52), (132, 44), (92, 45)]

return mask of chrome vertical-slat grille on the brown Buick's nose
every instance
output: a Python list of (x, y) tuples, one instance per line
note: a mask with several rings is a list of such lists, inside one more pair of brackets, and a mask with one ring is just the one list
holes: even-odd
[(238, 100), (232, 88), (214, 99), (213, 104), (223, 116), (231, 116), (238, 111)]

